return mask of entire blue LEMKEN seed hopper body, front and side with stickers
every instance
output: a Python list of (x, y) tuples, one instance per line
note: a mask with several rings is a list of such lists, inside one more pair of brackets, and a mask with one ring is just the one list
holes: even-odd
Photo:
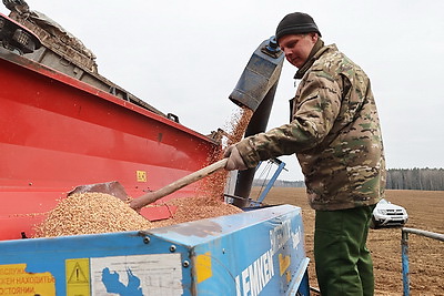
[[(307, 258), (301, 210), (290, 205), (149, 232), (0, 242), (2, 288), (31, 289), (32, 284), (20, 286), (23, 280), (12, 275), (19, 264), (26, 264), (26, 275), (52, 275), (57, 295), (112, 290), (120, 295), (294, 295), (297, 289), (309, 290), (307, 280), (302, 280)], [(82, 285), (81, 293), (73, 292)]]

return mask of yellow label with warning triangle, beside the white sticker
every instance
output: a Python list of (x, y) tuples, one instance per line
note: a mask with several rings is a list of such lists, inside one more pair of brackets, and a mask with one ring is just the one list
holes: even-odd
[(90, 259), (67, 259), (67, 296), (90, 296)]

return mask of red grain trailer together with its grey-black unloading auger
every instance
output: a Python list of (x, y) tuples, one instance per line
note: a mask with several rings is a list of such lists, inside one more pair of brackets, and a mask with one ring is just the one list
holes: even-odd
[[(8, 3), (10, 16), (0, 13), (0, 239), (32, 236), (78, 185), (118, 181), (138, 197), (216, 161), (223, 131), (205, 136), (181, 125), (100, 75), (95, 55), (60, 24)], [(265, 40), (229, 96), (254, 111), (245, 135), (265, 130), (282, 63), (275, 40)], [(253, 176), (254, 169), (232, 178), (234, 205), (246, 206)], [(193, 196), (200, 185), (162, 200)], [(158, 206), (143, 215), (170, 213)]]

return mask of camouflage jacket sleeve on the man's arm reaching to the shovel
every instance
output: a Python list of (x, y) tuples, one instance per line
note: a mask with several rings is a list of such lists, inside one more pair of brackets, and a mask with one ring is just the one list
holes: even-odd
[(236, 144), (249, 167), (260, 161), (310, 150), (329, 134), (341, 109), (339, 83), (324, 71), (312, 70), (299, 86), (293, 120)]

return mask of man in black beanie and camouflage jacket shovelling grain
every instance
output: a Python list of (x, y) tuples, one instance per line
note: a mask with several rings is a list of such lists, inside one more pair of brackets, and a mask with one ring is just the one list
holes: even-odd
[(249, 136), (225, 152), (226, 170), (295, 153), (315, 210), (314, 259), (322, 296), (373, 295), (369, 225), (385, 188), (380, 120), (370, 80), (324, 45), (313, 19), (285, 16), (276, 41), (302, 79), (289, 124)]

